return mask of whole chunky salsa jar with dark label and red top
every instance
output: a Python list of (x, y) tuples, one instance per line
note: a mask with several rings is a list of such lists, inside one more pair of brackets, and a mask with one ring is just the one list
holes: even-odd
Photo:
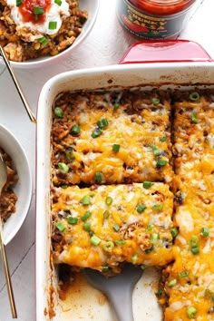
[(196, 1), (118, 0), (117, 15), (122, 26), (139, 38), (176, 38), (190, 20)]

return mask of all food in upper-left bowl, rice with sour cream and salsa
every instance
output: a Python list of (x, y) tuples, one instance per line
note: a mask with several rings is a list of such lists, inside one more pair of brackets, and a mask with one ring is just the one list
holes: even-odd
[(0, 0), (0, 44), (14, 62), (57, 55), (82, 33), (87, 18), (78, 0)]

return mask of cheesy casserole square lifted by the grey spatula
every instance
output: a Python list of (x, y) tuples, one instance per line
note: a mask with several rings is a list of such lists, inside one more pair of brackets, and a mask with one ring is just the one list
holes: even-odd
[[(144, 186), (144, 187), (143, 187)], [(163, 183), (52, 190), (53, 262), (118, 272), (172, 260), (173, 194)]]

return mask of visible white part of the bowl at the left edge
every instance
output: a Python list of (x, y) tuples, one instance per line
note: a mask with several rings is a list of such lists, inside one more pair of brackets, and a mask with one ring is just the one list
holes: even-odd
[(13, 190), (17, 196), (15, 213), (6, 220), (4, 225), (4, 243), (9, 243), (24, 223), (32, 199), (32, 174), (23, 147), (15, 136), (0, 124), (0, 146), (13, 160), (18, 174), (18, 182)]

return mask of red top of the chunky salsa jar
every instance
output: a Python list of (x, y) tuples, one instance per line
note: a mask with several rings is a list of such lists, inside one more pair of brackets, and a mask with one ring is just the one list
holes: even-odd
[(154, 15), (173, 15), (187, 9), (196, 0), (130, 0), (132, 5)]

